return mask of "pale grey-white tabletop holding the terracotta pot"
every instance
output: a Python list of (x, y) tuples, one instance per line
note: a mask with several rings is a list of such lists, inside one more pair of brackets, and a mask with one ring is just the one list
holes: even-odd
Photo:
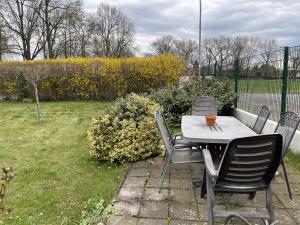
[(218, 116), (216, 123), (221, 130), (212, 130), (206, 125), (204, 116), (183, 116), (181, 120), (182, 138), (190, 143), (227, 144), (230, 140), (256, 136), (249, 127), (231, 116)]

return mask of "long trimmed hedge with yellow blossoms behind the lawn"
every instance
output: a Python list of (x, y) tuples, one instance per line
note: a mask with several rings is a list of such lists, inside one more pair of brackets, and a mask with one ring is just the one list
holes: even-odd
[(39, 95), (43, 100), (115, 99), (177, 84), (186, 71), (185, 63), (171, 55), (7, 62), (0, 64), (0, 97), (32, 97), (30, 84), (22, 82), (22, 74), (26, 78), (24, 71), (30, 73), (30, 67), (36, 72), (38, 66), (42, 71)]

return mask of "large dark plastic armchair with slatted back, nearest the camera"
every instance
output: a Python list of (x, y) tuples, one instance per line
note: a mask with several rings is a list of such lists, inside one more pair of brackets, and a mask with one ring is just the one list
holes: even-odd
[[(232, 140), (220, 164), (214, 164), (208, 149), (203, 150), (206, 167), (206, 189), (208, 224), (215, 218), (238, 215), (274, 222), (271, 181), (281, 162), (282, 136), (280, 134), (260, 135)], [(217, 211), (214, 208), (215, 192), (249, 194), (266, 192), (266, 209), (262, 212)]]

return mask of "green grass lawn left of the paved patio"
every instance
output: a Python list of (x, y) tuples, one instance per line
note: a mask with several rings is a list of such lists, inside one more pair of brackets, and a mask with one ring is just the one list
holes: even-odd
[(38, 124), (33, 103), (0, 102), (0, 166), (16, 173), (2, 224), (78, 224), (88, 199), (111, 200), (126, 166), (91, 160), (87, 141), (91, 118), (109, 105), (42, 103)]

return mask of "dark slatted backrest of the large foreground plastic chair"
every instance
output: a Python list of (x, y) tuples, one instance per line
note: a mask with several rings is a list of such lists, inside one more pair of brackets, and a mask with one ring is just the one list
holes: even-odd
[(280, 165), (281, 149), (280, 134), (232, 140), (222, 158), (216, 185), (241, 191), (266, 189)]

